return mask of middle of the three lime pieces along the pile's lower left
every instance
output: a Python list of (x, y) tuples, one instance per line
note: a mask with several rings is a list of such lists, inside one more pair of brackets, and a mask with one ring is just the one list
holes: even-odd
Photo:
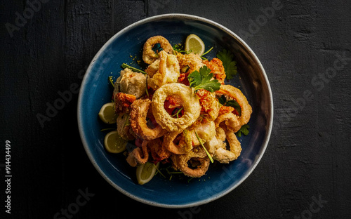
[(127, 142), (117, 131), (111, 131), (105, 135), (104, 145), (107, 152), (118, 154), (126, 150)]

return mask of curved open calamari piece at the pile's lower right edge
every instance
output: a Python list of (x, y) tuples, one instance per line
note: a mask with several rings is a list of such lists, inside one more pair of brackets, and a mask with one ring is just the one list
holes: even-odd
[(228, 131), (224, 129), (225, 137), (227, 138), (227, 142), (230, 146), (230, 150), (226, 149), (225, 144), (218, 145), (216, 151), (213, 154), (213, 159), (219, 161), (222, 164), (228, 164), (230, 161), (234, 161), (237, 159), (241, 153), (241, 144), (237, 139), (237, 135), (232, 131)]

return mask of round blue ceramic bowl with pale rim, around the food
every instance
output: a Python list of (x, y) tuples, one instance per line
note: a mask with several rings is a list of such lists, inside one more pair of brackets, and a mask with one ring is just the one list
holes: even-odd
[[(226, 81), (241, 89), (253, 108), (249, 135), (241, 136), (242, 152), (230, 164), (210, 165), (206, 175), (187, 181), (168, 180), (156, 175), (149, 183), (138, 185), (135, 168), (122, 154), (105, 151), (103, 140), (107, 131), (98, 119), (100, 107), (112, 98), (108, 84), (110, 75), (117, 78), (123, 62), (138, 67), (143, 44), (150, 36), (161, 35), (171, 44), (184, 43), (189, 34), (197, 34), (216, 57), (223, 48), (232, 51), (237, 60), (237, 77)], [(134, 59), (134, 61), (133, 61)], [(143, 66), (139, 66), (143, 67)], [(182, 208), (206, 204), (234, 190), (253, 171), (267, 147), (273, 120), (270, 85), (263, 66), (251, 48), (239, 36), (216, 22), (193, 15), (167, 14), (146, 18), (115, 34), (102, 46), (89, 65), (81, 84), (78, 101), (78, 124), (86, 153), (108, 183), (128, 197), (153, 206)]]

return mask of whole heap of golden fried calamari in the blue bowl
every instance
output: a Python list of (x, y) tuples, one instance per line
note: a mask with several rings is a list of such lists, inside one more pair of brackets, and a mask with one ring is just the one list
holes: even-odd
[[(159, 51), (154, 51), (155, 44), (161, 46)], [(235, 133), (249, 122), (252, 109), (238, 88), (225, 85), (222, 61), (178, 53), (163, 36), (147, 39), (143, 61), (147, 74), (126, 68), (114, 84), (117, 131), (122, 138), (135, 140), (128, 164), (171, 162), (175, 170), (199, 178), (211, 159), (223, 164), (237, 159), (241, 145)], [(194, 91), (189, 86), (187, 76), (204, 65), (219, 81), (220, 90)], [(241, 114), (220, 105), (223, 95), (239, 103)]]

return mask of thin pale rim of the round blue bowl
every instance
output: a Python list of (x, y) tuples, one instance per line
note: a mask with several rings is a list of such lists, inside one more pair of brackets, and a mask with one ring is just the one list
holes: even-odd
[[(185, 18), (185, 19), (190, 19), (190, 20), (199, 20), (199, 21), (202, 21), (202, 22), (206, 22), (209, 25), (213, 25), (215, 27), (218, 27), (219, 29), (222, 29), (224, 32), (226, 32), (230, 36), (232, 36), (235, 39), (237, 39), (237, 41), (239, 41), (251, 53), (251, 55), (253, 56), (255, 62), (258, 63), (258, 66), (260, 67), (261, 71), (263, 72), (263, 77), (265, 79), (265, 83), (267, 84), (267, 90), (268, 90), (268, 94), (269, 94), (269, 97), (270, 97), (270, 119), (267, 120), (267, 122), (268, 122), (267, 134), (265, 135), (265, 138), (263, 140), (263, 147), (260, 150), (260, 154), (258, 154), (259, 156), (258, 156), (258, 159), (256, 159), (256, 162), (251, 166), (251, 168), (246, 173), (246, 175), (244, 175), (244, 177), (241, 178), (241, 180), (239, 180), (238, 183), (236, 183), (235, 185), (230, 187), (228, 190), (226, 190), (224, 192), (219, 192), (216, 197), (209, 197), (207, 199), (203, 199), (203, 200), (199, 200), (199, 201), (193, 201), (192, 203), (189, 203), (189, 204), (160, 204), (160, 203), (155, 203), (155, 202), (147, 200), (147, 199), (143, 199), (143, 198), (140, 198), (140, 197), (135, 197), (134, 195), (130, 194), (128, 191), (126, 191), (126, 190), (122, 189), (121, 187), (119, 187), (119, 185), (116, 185), (114, 182), (112, 182), (112, 180), (110, 180), (110, 178), (107, 177), (107, 175), (102, 171), (100, 166), (98, 166), (96, 161), (93, 159), (93, 154), (91, 153), (91, 150), (88, 147), (88, 142), (86, 141), (86, 135), (84, 133), (84, 128), (82, 126), (82, 120), (83, 119), (81, 118), (81, 113), (80, 113), (82, 111), (81, 110), (82, 109), (82, 106), (81, 106), (81, 104), (82, 104), (82, 93), (83, 93), (86, 81), (88, 80), (88, 72), (91, 72), (93, 64), (94, 64), (95, 60), (98, 59), (100, 53), (105, 51), (105, 49), (108, 46), (110, 46), (110, 44), (112, 44), (114, 39), (119, 37), (121, 34), (124, 34), (125, 32), (128, 32), (129, 29), (132, 29), (133, 27), (136, 27), (138, 25), (142, 25), (144, 23), (152, 22), (154, 20), (159, 20), (159, 19), (162, 19), (162, 18)], [(84, 150), (86, 151), (86, 154), (88, 155), (88, 158), (90, 159), (91, 163), (93, 164), (95, 169), (98, 171), (98, 173), (100, 173), (102, 178), (107, 180), (107, 182), (110, 183), (110, 185), (112, 185), (112, 187), (117, 189), (119, 192), (121, 192), (122, 194), (125, 194), (127, 197), (130, 197), (131, 199), (134, 199), (135, 201), (140, 201), (141, 203), (144, 203), (144, 204), (148, 204), (148, 205), (151, 205), (151, 206), (157, 206), (157, 207), (163, 207), (163, 208), (187, 208), (187, 207), (199, 206), (199, 205), (202, 205), (202, 204), (207, 204), (207, 203), (209, 203), (211, 201), (214, 201), (216, 199), (219, 199), (220, 197), (225, 196), (225, 194), (228, 194), (229, 192), (232, 192), (232, 190), (234, 190), (241, 183), (243, 183), (244, 180), (246, 180), (246, 178), (248, 178), (249, 175), (251, 175), (253, 170), (256, 168), (256, 166), (260, 162), (260, 159), (262, 159), (263, 154), (265, 154), (265, 150), (267, 149), (267, 145), (268, 145), (268, 142), (270, 140), (270, 135), (272, 133), (273, 116), (274, 116), (274, 107), (273, 107), (273, 97), (272, 97), (272, 90), (270, 88), (270, 82), (268, 81), (267, 74), (265, 73), (265, 69), (263, 68), (263, 65), (261, 64), (260, 60), (258, 60), (258, 57), (252, 51), (252, 49), (249, 47), (249, 45), (247, 45), (246, 42), (243, 39), (241, 39), (239, 36), (237, 36), (237, 34), (232, 32), (227, 27), (224, 27), (223, 25), (220, 25), (218, 22), (214, 22), (213, 20), (209, 20), (207, 18), (202, 18), (202, 17), (199, 17), (197, 15), (189, 15), (189, 14), (183, 14), (183, 13), (166, 13), (166, 14), (162, 14), (162, 15), (154, 15), (154, 16), (149, 17), (149, 18), (144, 18), (142, 20), (134, 22), (131, 25), (128, 25), (127, 27), (124, 27), (119, 32), (114, 34), (114, 36), (112, 36), (100, 48), (98, 53), (95, 54), (95, 56), (91, 60), (90, 64), (88, 65), (88, 68), (86, 69), (86, 74), (84, 74), (84, 78), (83, 78), (83, 80), (81, 82), (81, 86), (79, 88), (79, 96), (78, 96), (78, 102), (77, 102), (77, 121), (78, 121), (78, 128), (79, 128), (79, 135), (80, 135), (80, 138), (81, 138), (81, 142), (83, 143)]]

